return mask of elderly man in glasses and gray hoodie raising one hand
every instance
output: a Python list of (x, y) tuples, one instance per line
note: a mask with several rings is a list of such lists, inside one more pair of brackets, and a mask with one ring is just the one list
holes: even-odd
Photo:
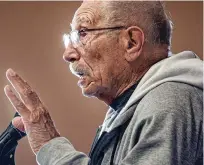
[[(83, 2), (65, 35), (65, 61), (88, 97), (109, 105), (89, 156), (57, 132), (48, 110), (13, 70), (5, 87), (40, 165), (202, 164), (203, 63), (170, 53), (159, 1)], [(24, 128), (22, 128), (24, 126)]]

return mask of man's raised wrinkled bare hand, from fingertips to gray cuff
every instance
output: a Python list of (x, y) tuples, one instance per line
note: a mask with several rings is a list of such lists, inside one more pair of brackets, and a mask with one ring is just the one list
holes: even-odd
[[(21, 118), (14, 118), (13, 124), (21, 130), (25, 129), (30, 146), (35, 154), (48, 141), (60, 134), (56, 130), (50, 114), (35, 91), (12, 69), (8, 69), (6, 77), (18, 93), (18, 98), (11, 86), (4, 88), (5, 94)], [(24, 128), (23, 128), (24, 126)]]

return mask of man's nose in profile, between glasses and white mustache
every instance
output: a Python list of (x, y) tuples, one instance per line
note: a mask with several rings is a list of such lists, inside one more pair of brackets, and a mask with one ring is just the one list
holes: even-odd
[(73, 63), (75, 61), (78, 61), (80, 59), (79, 53), (71, 46), (68, 46), (63, 54), (63, 59), (66, 62)]

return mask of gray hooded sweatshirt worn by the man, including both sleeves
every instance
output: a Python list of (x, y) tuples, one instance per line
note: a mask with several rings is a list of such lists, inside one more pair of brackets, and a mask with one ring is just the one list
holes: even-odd
[(203, 62), (172, 55), (143, 76), (117, 114), (109, 109), (89, 156), (64, 137), (37, 154), (40, 165), (201, 165)]

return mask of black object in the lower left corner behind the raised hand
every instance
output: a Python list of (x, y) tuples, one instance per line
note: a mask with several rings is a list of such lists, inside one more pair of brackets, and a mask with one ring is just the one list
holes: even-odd
[[(20, 116), (17, 112), (14, 115)], [(18, 141), (26, 136), (26, 133), (18, 130), (12, 124), (0, 135), (0, 165), (15, 165), (15, 150)]]

